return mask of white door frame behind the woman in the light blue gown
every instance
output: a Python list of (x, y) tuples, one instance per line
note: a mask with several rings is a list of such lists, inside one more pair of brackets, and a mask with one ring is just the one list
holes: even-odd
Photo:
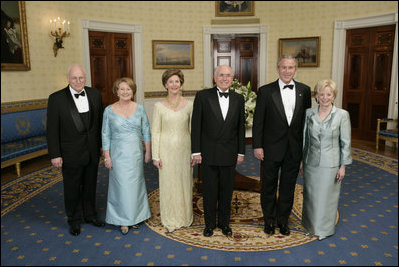
[(143, 48), (142, 48), (142, 27), (140, 24), (121, 24), (106, 21), (95, 21), (82, 19), (82, 40), (84, 67), (87, 71), (87, 84), (91, 86), (90, 73), (90, 44), (89, 31), (121, 32), (132, 35), (132, 55), (133, 55), (133, 77), (137, 85), (136, 101), (144, 102), (144, 80), (143, 80)]

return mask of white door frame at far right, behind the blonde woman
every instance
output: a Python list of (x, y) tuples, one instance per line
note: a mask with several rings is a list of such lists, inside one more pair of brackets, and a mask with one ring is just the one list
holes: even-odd
[(388, 117), (398, 117), (398, 13), (385, 14), (380, 16), (365, 17), (349, 20), (336, 20), (334, 27), (334, 50), (332, 79), (337, 83), (338, 95), (335, 103), (342, 107), (342, 95), (345, 70), (345, 42), (346, 30), (376, 27), (396, 24), (395, 41), (393, 50), (391, 85), (389, 93)]

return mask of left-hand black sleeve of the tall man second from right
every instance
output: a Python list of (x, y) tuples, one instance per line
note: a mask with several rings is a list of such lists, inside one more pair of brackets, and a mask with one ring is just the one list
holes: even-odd
[(254, 121), (252, 127), (252, 147), (261, 148), (263, 147), (263, 124), (266, 116), (265, 101), (263, 101), (264, 89), (261, 87), (258, 90), (258, 96), (256, 98), (256, 107), (254, 114)]

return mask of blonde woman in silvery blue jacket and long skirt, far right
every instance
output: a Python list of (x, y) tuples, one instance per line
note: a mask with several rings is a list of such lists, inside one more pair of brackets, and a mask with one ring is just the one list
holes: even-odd
[(319, 240), (335, 233), (345, 165), (352, 163), (349, 113), (334, 106), (337, 86), (321, 80), (315, 86), (317, 107), (306, 110), (303, 135), (303, 211), (307, 234)]

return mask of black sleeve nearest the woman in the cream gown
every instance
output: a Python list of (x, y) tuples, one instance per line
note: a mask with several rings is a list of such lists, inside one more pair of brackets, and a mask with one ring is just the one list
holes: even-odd
[(197, 92), (194, 98), (193, 115), (191, 117), (191, 152), (201, 152), (201, 122), (202, 122), (202, 104), (200, 92)]

